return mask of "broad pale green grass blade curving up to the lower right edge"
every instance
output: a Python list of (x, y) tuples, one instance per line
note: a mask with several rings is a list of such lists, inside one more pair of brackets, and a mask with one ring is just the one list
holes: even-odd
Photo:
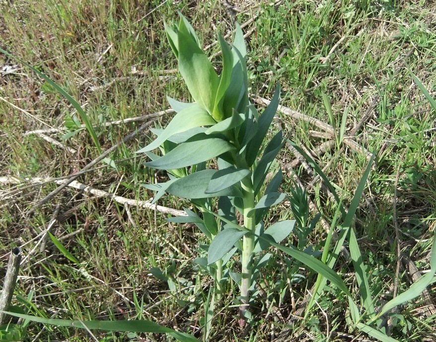
[(404, 291), (403, 293), (400, 293), (398, 296), (396, 296), (394, 299), (391, 299), (388, 301), (379, 314), (378, 317), (385, 314), (389, 310), (393, 309), (394, 307), (401, 305), (403, 303), (406, 303), (408, 301), (411, 301), (412, 299), (418, 297), (428, 285), (430, 285), (433, 282), (433, 277), (436, 273), (436, 238), (433, 238), (433, 246), (432, 246), (432, 252), (430, 257), (430, 272), (424, 274), (417, 282), (410, 285), (410, 287)]

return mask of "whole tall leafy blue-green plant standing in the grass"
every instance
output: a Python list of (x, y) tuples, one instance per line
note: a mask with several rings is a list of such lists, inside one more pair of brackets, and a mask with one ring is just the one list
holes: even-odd
[[(246, 49), (239, 26), (232, 48), (218, 35), (222, 52), (219, 76), (184, 16), (178, 27), (165, 25), (165, 29), (195, 102), (168, 98), (176, 116), (165, 130), (154, 130), (157, 138), (138, 152), (145, 152), (152, 160), (147, 166), (168, 170), (170, 180), (144, 186), (157, 191), (153, 203), (166, 192), (189, 199), (194, 205), (195, 211), (185, 208), (187, 216), (169, 221), (195, 223), (208, 237), (211, 244), (207, 259), (196, 262), (214, 275), (218, 299), (227, 274), (238, 283), (240, 322), (244, 324), (250, 317), (250, 290), (256, 281), (253, 275), (262, 265), (255, 256), (270, 246), (268, 239), (285, 239), (295, 222), (276, 222), (265, 231), (262, 222), (268, 208), (286, 198), (278, 192), (280, 170), (265, 186), (271, 164), (285, 142), (278, 132), (263, 145), (279, 104), (280, 87), (259, 115), (248, 98)], [(160, 157), (151, 152), (157, 147), (162, 152)], [(214, 158), (218, 169), (207, 168), (206, 163)], [(213, 211), (214, 198), (218, 198), (218, 213)], [(238, 224), (237, 213), (243, 216), (242, 225)], [(256, 238), (256, 234), (264, 240)], [(241, 255), (240, 274), (225, 267), (236, 251)]]

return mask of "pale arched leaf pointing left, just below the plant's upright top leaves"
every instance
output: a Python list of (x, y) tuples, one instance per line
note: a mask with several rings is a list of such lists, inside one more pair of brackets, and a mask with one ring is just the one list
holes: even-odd
[(216, 121), (206, 110), (198, 105), (192, 105), (177, 113), (162, 133), (137, 153), (151, 151), (159, 147), (166, 139), (177, 134), (186, 132), (192, 128), (215, 125)]

